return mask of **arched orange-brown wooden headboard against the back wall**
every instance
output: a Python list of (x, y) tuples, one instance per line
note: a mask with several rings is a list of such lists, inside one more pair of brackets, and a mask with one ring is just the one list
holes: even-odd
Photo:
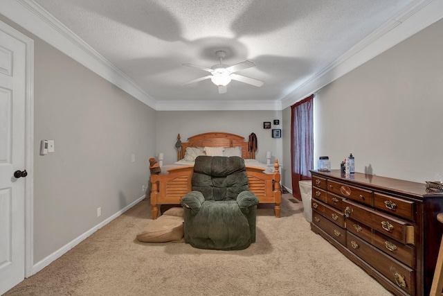
[[(180, 134), (177, 136), (180, 140)], [(189, 137), (188, 142), (181, 143), (181, 149), (177, 151), (177, 160), (183, 159), (186, 148), (188, 147), (242, 147), (243, 158), (255, 159), (255, 151), (249, 151), (248, 141), (244, 137), (237, 134), (229, 134), (228, 132), (206, 132), (204, 134), (196, 134)]]

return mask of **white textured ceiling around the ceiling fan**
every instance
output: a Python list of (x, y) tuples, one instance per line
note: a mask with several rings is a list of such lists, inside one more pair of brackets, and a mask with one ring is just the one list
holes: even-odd
[[(156, 101), (284, 100), (413, 0), (35, 0)], [(215, 51), (237, 72), (218, 94), (208, 75)]]

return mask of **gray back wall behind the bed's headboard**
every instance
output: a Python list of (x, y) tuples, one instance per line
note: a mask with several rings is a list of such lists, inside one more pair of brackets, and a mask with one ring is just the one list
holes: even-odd
[[(159, 111), (156, 116), (156, 152), (165, 153), (165, 163), (177, 161), (177, 134), (181, 141), (188, 141), (188, 137), (204, 132), (230, 132), (247, 141), (254, 132), (258, 142), (255, 158), (266, 162), (266, 151), (271, 151), (283, 164), (282, 139), (271, 137), (273, 128), (282, 129), (283, 136), (287, 132), (282, 128), (281, 111)], [(274, 119), (279, 119), (280, 125), (273, 125)], [(271, 130), (263, 129), (264, 121), (271, 121)]]

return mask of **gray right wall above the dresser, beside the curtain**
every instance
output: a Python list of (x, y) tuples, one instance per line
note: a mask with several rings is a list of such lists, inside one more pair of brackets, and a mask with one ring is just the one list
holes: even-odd
[(353, 153), (357, 172), (415, 182), (443, 175), (442, 52), (440, 20), (320, 89), (316, 159), (329, 155), (339, 168)]

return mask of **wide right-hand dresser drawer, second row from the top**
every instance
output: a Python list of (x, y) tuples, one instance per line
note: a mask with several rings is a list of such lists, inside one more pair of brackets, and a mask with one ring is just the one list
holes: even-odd
[(360, 204), (343, 200), (344, 214), (401, 243), (414, 243), (414, 226)]

